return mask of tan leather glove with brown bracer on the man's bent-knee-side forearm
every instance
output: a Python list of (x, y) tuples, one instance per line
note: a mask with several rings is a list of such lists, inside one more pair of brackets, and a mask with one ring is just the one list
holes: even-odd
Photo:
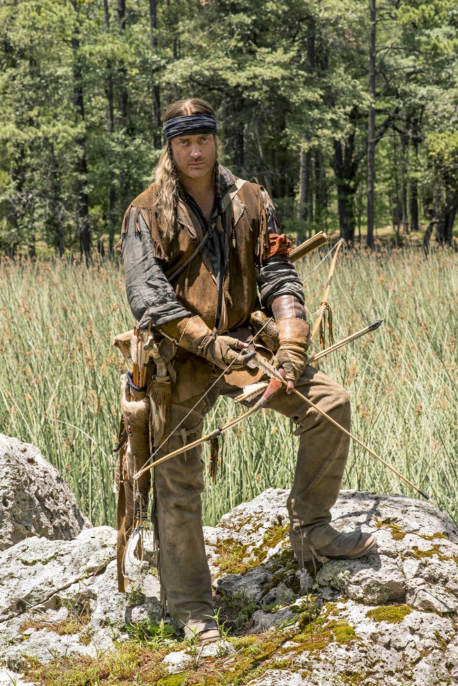
[(278, 367), (285, 370), (288, 381), (287, 392), (291, 393), (294, 383), (307, 364), (307, 347), (310, 326), (305, 320), (305, 309), (294, 296), (278, 296), (271, 304), (278, 328), (280, 347), (276, 353)]

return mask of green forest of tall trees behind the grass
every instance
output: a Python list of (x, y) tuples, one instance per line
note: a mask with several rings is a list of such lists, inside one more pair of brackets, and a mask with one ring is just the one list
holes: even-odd
[(192, 96), (289, 231), (452, 245), (457, 36), (456, 0), (1, 0), (0, 255), (111, 253)]

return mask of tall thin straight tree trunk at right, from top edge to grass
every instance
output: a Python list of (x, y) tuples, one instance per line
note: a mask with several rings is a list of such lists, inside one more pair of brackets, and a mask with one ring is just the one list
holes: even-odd
[(376, 0), (370, 0), (370, 35), (369, 35), (369, 117), (368, 117), (368, 238), (370, 249), (374, 248), (374, 180), (375, 180), (375, 30), (376, 30)]

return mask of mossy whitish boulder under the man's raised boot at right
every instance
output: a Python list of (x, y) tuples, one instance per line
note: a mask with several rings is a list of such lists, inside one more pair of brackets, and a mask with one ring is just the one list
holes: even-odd
[(298, 627), (249, 686), (458, 683), (457, 526), (418, 500), (343, 491), (334, 526), (373, 531), (378, 550), (312, 575), (290, 553), (287, 495), (265, 491), (206, 531), (216, 588), (258, 608), (251, 631)]

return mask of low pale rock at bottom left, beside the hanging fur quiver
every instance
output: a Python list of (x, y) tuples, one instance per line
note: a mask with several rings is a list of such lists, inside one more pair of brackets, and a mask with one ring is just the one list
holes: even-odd
[(115, 557), (110, 526), (73, 541), (28, 538), (0, 553), (0, 655), (8, 669), (21, 671), (30, 657), (95, 656), (113, 649), (130, 622), (160, 620), (158, 580), (148, 574), (142, 591), (118, 593)]

